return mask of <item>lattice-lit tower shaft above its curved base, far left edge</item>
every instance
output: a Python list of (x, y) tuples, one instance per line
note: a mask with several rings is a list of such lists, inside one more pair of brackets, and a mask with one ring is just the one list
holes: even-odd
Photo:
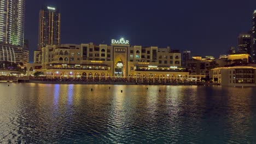
[(0, 0), (0, 43), (24, 44), (25, 0)]

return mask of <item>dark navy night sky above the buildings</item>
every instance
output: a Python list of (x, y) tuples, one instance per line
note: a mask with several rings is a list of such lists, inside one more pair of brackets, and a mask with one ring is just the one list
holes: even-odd
[(237, 47), (239, 33), (252, 29), (255, 0), (97, 1), (26, 0), (25, 38), (30, 61), (38, 44), (43, 5), (61, 13), (61, 44), (96, 43), (124, 37), (131, 45), (191, 50), (218, 57)]

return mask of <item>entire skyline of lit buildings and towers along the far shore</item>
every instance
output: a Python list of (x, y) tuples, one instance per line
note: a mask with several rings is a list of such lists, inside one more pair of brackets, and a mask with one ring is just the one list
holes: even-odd
[[(25, 0), (0, 0), (0, 61), (22, 63), (27, 75), (45, 79), (98, 81), (136, 79), (136, 82), (199, 82), (228, 86), (256, 86), (256, 10), (252, 31), (237, 37), (237, 52), (191, 56), (170, 47), (130, 45), (124, 38), (107, 44), (61, 44), (61, 15), (54, 7), (39, 11), (38, 50), (28, 63), (24, 40)], [(1, 66), (1, 64), (0, 64)]]

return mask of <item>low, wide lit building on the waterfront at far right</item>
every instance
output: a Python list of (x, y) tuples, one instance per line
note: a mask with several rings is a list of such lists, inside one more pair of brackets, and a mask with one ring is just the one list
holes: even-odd
[(256, 68), (251, 66), (214, 68), (211, 77), (222, 86), (256, 86)]

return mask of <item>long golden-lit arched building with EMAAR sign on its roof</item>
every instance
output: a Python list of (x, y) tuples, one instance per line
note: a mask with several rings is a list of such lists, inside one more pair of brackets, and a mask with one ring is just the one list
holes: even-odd
[(123, 38), (112, 40), (111, 45), (48, 45), (34, 52), (34, 64), (28, 65), (27, 74), (33, 74), (36, 66), (41, 66), (40, 71), (48, 78), (136, 77), (156, 81), (189, 77), (186, 69), (181, 68), (179, 50), (130, 46)]

